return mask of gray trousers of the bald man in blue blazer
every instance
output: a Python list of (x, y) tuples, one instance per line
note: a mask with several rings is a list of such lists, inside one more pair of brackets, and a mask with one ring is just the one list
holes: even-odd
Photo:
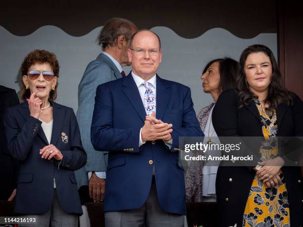
[(105, 212), (105, 227), (184, 227), (184, 215), (162, 211), (155, 184), (145, 204), (134, 210)]

